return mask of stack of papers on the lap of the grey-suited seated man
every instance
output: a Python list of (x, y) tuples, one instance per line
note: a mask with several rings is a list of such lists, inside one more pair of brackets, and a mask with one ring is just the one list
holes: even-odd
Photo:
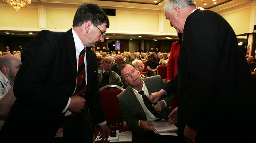
[(161, 121), (151, 122), (155, 126), (150, 126), (156, 134), (160, 135), (169, 135), (169, 136), (178, 136), (177, 132), (178, 127), (173, 124), (170, 124), (168, 121), (162, 119)]

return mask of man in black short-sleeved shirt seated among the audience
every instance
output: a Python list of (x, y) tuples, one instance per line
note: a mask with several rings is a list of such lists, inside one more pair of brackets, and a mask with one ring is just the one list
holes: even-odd
[(156, 60), (156, 53), (152, 53), (150, 55), (151, 58), (146, 62), (147, 75), (154, 76), (156, 75), (156, 67), (158, 66), (158, 62)]

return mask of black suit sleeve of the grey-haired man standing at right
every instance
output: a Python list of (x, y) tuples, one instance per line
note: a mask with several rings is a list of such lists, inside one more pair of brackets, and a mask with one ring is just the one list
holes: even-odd
[[(206, 15), (195, 14), (187, 19), (185, 47), (190, 76), (187, 125), (198, 130), (204, 125), (214, 102), (220, 78), (221, 27)], [(223, 33), (222, 33), (223, 34)], [(200, 38), (198, 38), (200, 37)]]

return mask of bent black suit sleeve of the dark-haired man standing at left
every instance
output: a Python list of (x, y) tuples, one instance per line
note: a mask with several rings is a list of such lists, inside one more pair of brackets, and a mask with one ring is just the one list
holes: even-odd
[(51, 73), (56, 54), (50, 31), (43, 30), (29, 43), (21, 54), (22, 66), (16, 74), (14, 95), (23, 104), (47, 111), (61, 113), (68, 103), (68, 95), (45, 90), (44, 83)]

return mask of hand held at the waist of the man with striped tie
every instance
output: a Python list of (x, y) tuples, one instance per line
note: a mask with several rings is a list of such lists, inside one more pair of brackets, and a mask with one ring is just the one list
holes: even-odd
[(68, 106), (68, 111), (81, 113), (81, 110), (84, 109), (85, 104), (84, 97), (75, 95), (70, 98), (70, 104)]

